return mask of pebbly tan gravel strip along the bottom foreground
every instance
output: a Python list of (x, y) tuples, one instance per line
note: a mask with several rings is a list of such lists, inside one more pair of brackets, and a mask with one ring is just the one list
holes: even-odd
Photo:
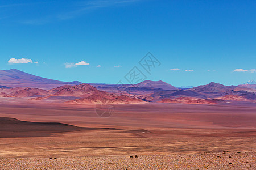
[(256, 152), (0, 159), (0, 169), (256, 169)]

